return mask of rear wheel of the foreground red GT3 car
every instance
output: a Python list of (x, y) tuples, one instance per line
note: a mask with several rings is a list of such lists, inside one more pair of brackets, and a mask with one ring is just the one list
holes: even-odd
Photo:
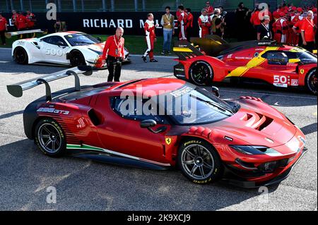
[(42, 118), (35, 126), (35, 143), (49, 157), (61, 157), (66, 152), (64, 132), (52, 118)]

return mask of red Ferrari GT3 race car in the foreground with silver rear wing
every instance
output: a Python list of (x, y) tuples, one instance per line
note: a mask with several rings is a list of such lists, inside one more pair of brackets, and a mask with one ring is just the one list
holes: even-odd
[[(79, 73), (92, 71), (72, 68), (7, 86), (20, 97), (45, 84), (46, 96), (26, 107), (23, 123), (25, 135), (50, 157), (177, 166), (194, 183), (223, 179), (254, 188), (282, 181), (307, 151), (302, 131), (259, 98), (223, 100), (216, 87), (171, 78), (81, 86)], [(75, 88), (51, 93), (48, 83), (69, 75)]]

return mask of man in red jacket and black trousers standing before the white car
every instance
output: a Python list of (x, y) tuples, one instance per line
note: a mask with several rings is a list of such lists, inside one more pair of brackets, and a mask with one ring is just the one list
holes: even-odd
[(119, 82), (120, 73), (122, 71), (122, 61), (125, 58), (124, 42), (125, 39), (123, 28), (117, 28), (116, 34), (107, 38), (104, 50), (102, 51), (102, 62), (107, 62), (108, 78), (107, 82)]

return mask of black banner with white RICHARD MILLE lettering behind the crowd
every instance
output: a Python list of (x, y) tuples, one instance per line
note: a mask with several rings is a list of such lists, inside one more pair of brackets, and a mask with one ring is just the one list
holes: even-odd
[[(86, 32), (88, 34), (99, 35), (112, 35), (117, 27), (124, 28), (124, 35), (145, 35), (143, 31), (143, 25), (146, 22), (146, 16), (148, 12), (95, 12), (95, 13), (57, 13), (57, 19), (66, 22), (67, 30), (76, 30)], [(161, 16), (164, 12), (155, 12), (155, 23), (160, 25)], [(191, 32), (191, 37), (199, 36), (199, 25), (197, 19), (201, 13), (194, 12), (194, 28)], [(11, 21), (11, 13), (4, 13), (5, 18), (8, 20), (9, 31), (15, 31), (14, 25)], [(172, 12), (175, 16), (175, 12)], [(46, 13), (35, 13), (37, 17), (37, 23), (35, 28), (48, 30), (48, 32), (54, 32), (55, 20), (47, 20)], [(234, 35), (230, 32), (234, 32), (235, 21), (234, 13), (229, 12), (226, 15), (228, 36)], [(177, 20), (175, 20), (177, 28)], [(163, 28), (160, 25), (156, 30), (156, 35), (163, 35)], [(178, 30), (175, 32), (177, 35)]]

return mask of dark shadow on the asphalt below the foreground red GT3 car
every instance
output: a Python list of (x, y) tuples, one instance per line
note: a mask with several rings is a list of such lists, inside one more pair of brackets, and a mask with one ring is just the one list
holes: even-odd
[[(27, 139), (3, 145), (0, 152), (0, 209), (6, 210), (216, 210), (262, 193), (222, 183), (197, 185), (173, 170), (50, 158)], [(54, 206), (45, 202), (49, 186), (57, 188)]]

